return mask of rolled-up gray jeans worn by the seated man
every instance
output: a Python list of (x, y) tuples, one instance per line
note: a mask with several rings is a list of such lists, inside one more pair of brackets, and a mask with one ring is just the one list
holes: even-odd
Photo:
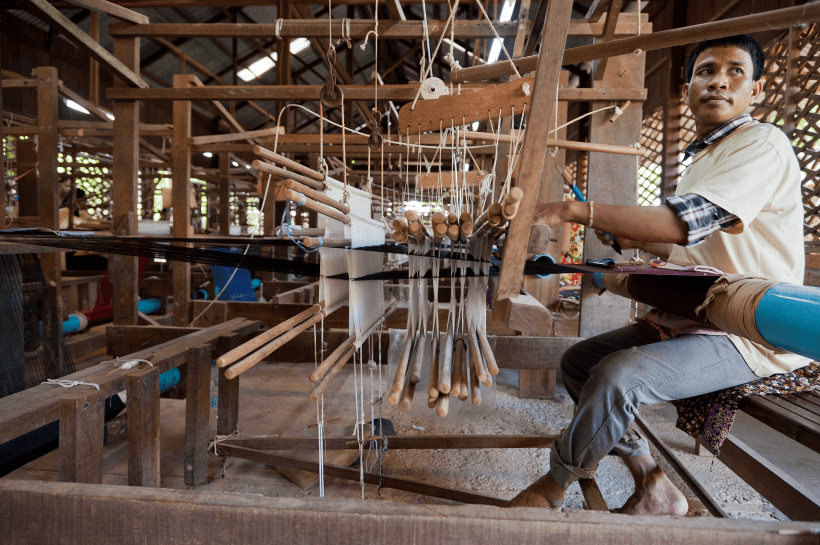
[(572, 346), (561, 359), (561, 376), (577, 405), (550, 455), (553, 477), (564, 488), (590, 479), (610, 451), (649, 454), (646, 440), (629, 430), (637, 408), (759, 378), (726, 336), (681, 335), (662, 341), (646, 322)]

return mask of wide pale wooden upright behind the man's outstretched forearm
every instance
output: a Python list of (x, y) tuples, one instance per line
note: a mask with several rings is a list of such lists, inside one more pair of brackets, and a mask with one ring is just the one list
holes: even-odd
[[(594, 87), (640, 88), (644, 85), (645, 53), (611, 57), (604, 79), (596, 79)], [(611, 106), (611, 102), (594, 101), (592, 109)], [(641, 109), (627, 108), (614, 123), (609, 122), (611, 110), (592, 116), (590, 140), (596, 143), (631, 145), (640, 141)], [(590, 152), (587, 198), (606, 205), (635, 205), (637, 202), (637, 164), (635, 157), (612, 153)], [(627, 252), (630, 253), (630, 252)], [(584, 260), (626, 259), (611, 246), (602, 245), (592, 229), (584, 235)], [(631, 300), (605, 291), (592, 283), (592, 275), (581, 280), (581, 322), (579, 336), (591, 337), (626, 326), (632, 318)]]

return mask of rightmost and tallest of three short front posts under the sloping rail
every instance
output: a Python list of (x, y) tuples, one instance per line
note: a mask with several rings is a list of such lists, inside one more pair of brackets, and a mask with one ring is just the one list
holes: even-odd
[(207, 477), (207, 439), (210, 431), (211, 349), (188, 349), (185, 384), (185, 484), (203, 484)]

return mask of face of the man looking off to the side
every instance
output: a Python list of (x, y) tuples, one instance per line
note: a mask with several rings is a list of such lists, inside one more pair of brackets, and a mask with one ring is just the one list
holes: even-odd
[(763, 90), (752, 79), (752, 57), (740, 47), (708, 47), (695, 59), (692, 80), (683, 86), (683, 100), (692, 110), (698, 137), (743, 115)]

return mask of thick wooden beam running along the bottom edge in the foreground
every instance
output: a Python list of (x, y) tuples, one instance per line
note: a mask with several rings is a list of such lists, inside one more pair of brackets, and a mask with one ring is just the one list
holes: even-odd
[[(201, 0), (197, 0), (198, 2)], [(246, 2), (248, 0), (245, 0)], [(818, 525), (779, 520), (551, 513), (478, 505), (412, 505), (384, 500), (276, 498), (214, 490), (0, 480), (3, 538), (9, 543), (573, 543), (600, 545), (798, 545)], [(93, 513), (93, 516), (89, 516)], [(423, 531), (422, 531), (423, 530)]]

